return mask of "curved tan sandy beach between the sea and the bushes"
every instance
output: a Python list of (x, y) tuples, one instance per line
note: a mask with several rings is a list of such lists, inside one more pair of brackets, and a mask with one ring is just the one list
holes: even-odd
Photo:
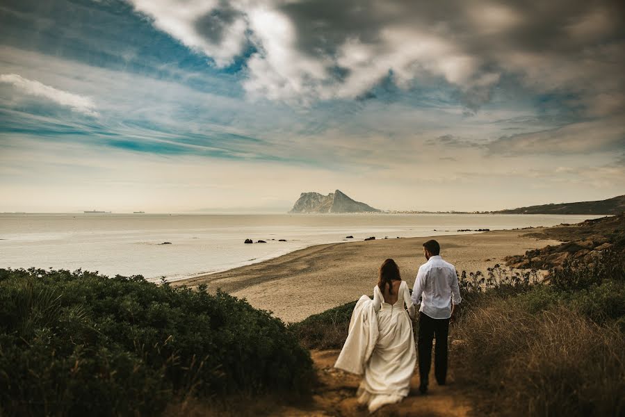
[[(503, 265), (508, 255), (555, 245), (558, 240), (523, 237), (531, 230), (487, 231), (480, 234), (435, 236), (441, 256), (458, 272), (484, 271)], [(286, 322), (300, 321), (311, 314), (371, 295), (378, 281), (382, 261), (393, 258), (403, 279), (414, 284), (419, 266), (425, 263), (422, 244), (428, 237), (350, 241), (307, 247), (275, 259), (216, 274), (175, 281), (172, 285), (223, 291), (245, 297), (252, 306), (273, 311)]]

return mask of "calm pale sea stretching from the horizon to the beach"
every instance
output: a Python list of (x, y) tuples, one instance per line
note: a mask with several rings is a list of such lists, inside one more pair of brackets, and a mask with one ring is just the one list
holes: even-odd
[[(82, 268), (174, 280), (341, 242), (348, 235), (354, 240), (434, 236), (457, 234), (457, 229), (553, 226), (596, 217), (601, 216), (0, 214), (0, 268)], [(267, 243), (245, 245), (246, 238)]]

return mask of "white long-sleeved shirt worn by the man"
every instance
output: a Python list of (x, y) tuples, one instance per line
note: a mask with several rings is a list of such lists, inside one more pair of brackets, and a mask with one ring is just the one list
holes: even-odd
[(461, 301), (456, 268), (443, 261), (440, 255), (430, 256), (428, 262), (419, 267), (412, 302), (421, 303), (419, 311), (431, 318), (450, 318), (452, 302), (455, 305)]

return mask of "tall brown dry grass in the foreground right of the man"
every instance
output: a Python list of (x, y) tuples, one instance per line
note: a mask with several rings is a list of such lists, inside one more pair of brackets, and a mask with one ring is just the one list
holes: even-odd
[(456, 329), (457, 378), (492, 393), (508, 416), (624, 416), (625, 339), (562, 306), (537, 315), (514, 301), (469, 311)]

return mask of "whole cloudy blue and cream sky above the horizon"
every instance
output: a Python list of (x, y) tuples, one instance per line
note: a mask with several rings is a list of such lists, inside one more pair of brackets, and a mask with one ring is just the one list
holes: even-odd
[(0, 212), (625, 194), (620, 1), (1, 0)]

